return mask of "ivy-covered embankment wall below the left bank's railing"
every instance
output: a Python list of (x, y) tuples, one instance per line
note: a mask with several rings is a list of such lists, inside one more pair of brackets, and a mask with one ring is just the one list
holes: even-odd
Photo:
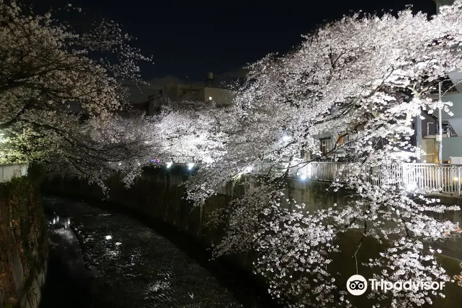
[(0, 184), (0, 308), (40, 303), (48, 241), (36, 175)]

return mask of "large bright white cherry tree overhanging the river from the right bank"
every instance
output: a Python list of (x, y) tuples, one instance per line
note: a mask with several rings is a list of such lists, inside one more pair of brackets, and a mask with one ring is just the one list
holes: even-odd
[[(413, 133), (412, 119), (451, 105), (427, 94), (448, 72), (462, 68), (461, 7), (462, 0), (456, 0), (430, 20), (411, 9), (397, 18), (344, 17), (306, 35), (292, 52), (270, 54), (249, 66), (247, 81), (223, 121), (226, 146), (186, 183), (188, 197), (202, 205), (217, 187), (263, 157), (271, 158), (274, 167), (281, 161), (286, 167), (259, 177), (224, 209), (225, 215), (216, 215), (226, 218), (228, 229), (215, 256), (256, 252), (255, 271), (268, 279), (276, 298), (290, 299), (293, 307), (353, 305), (337, 284), (348, 277), (330, 272), (332, 256), (340, 249), (336, 239), (351, 230), (360, 234), (355, 259), (365, 239), (383, 244), (374, 259), (362, 260), (376, 269), (377, 279), (450, 280), (431, 245), (457, 237), (460, 229), (431, 213), (458, 207), (426, 197), (428, 191), (409, 191), (396, 170), (410, 159), (396, 153), (420, 155), (405, 137)], [(323, 133), (348, 139), (321, 153), (318, 136)], [(330, 189), (352, 196), (347, 205), (307, 211), (285, 197), (289, 169), (310, 162), (300, 150), (322, 159), (334, 159), (343, 150), (347, 163)], [(390, 307), (431, 303), (435, 296), (444, 294), (370, 295)]]

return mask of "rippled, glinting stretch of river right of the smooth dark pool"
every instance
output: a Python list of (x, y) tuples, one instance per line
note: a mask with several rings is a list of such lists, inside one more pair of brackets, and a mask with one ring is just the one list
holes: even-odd
[(98, 306), (241, 307), (204, 268), (153, 230), (85, 203), (45, 198), (50, 232), (82, 248)]

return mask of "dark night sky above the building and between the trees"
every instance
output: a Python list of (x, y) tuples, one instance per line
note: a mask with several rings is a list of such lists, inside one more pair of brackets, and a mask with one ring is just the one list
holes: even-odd
[(351, 10), (403, 9), (434, 12), (432, 0), (351, 1), (150, 1), (150, 0), (25, 0), (34, 7), (81, 7), (88, 15), (106, 17), (138, 37), (137, 46), (153, 54), (144, 68), (146, 80), (175, 76), (203, 80), (208, 71), (224, 78), (269, 52), (286, 52), (325, 20)]

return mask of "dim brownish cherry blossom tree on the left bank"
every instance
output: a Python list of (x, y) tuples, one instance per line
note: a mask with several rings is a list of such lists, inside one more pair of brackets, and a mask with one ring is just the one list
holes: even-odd
[(137, 174), (151, 126), (115, 114), (129, 110), (123, 82), (140, 83), (138, 63), (150, 57), (113, 21), (82, 32), (52, 16), (0, 0), (0, 163), (42, 161), (99, 183), (107, 168)]

